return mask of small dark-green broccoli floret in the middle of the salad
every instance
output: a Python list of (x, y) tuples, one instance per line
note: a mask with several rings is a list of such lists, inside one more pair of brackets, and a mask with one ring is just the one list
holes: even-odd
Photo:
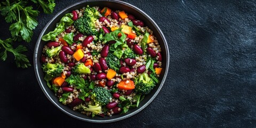
[(108, 54), (106, 62), (109, 68), (119, 71), (119, 68), (121, 67), (120, 60), (114, 54)]

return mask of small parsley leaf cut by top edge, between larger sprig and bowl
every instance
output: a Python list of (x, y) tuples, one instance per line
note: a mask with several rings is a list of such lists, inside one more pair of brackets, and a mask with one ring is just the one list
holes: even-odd
[(42, 6), (44, 13), (51, 14), (54, 10), (55, 3), (54, 0), (48, 0), (48, 2), (44, 2), (42, 0), (31, 0), (34, 3), (39, 3), (40, 6)]

